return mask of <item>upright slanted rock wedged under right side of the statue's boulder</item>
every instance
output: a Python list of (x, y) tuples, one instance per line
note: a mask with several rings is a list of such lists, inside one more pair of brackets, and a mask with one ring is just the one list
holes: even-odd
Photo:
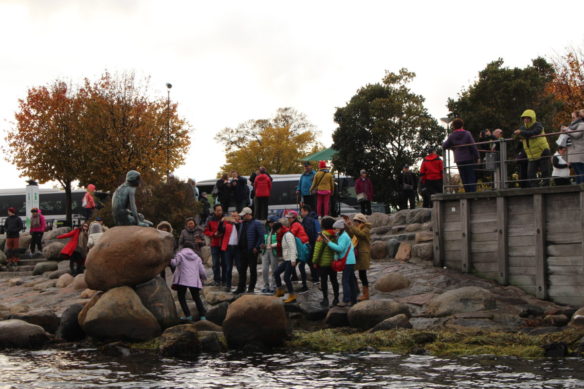
[(178, 323), (172, 292), (161, 277), (154, 277), (148, 282), (137, 285), (135, 289), (142, 304), (158, 320), (160, 328), (166, 329)]

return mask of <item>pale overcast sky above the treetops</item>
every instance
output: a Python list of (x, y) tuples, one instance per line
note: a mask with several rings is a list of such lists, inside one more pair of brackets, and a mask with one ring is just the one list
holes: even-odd
[(584, 47), (582, 11), (562, 0), (0, 0), (0, 189), (25, 185), (5, 154), (18, 99), (56, 79), (135, 72), (153, 98), (171, 83), (192, 127), (175, 174), (203, 180), (225, 162), (218, 131), (279, 107), (305, 113), (329, 146), (335, 109), (386, 70), (415, 72), (411, 89), (444, 117), (487, 63)]

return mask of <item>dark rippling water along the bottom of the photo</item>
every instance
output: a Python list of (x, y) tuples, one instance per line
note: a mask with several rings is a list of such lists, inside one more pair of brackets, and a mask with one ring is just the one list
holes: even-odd
[(6, 351), (5, 388), (584, 388), (582, 359), (444, 359), (392, 353), (105, 356), (96, 350)]

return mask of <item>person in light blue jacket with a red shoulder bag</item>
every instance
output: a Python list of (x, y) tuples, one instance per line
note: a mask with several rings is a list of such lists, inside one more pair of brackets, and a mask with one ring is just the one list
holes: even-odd
[[(335, 260), (346, 259), (343, 270), (343, 306), (357, 303), (357, 279), (355, 278), (355, 250), (351, 237), (345, 231), (345, 222), (337, 220), (333, 224), (337, 241), (333, 242), (325, 238), (328, 246), (335, 252)], [(341, 305), (341, 304), (339, 304)]]

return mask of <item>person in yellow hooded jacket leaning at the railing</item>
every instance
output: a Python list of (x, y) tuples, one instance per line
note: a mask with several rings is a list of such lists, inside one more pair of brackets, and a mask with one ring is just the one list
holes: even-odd
[(550, 146), (545, 136), (543, 125), (536, 120), (535, 111), (527, 109), (521, 114), (523, 125), (513, 133), (523, 143), (523, 150), (527, 155), (528, 186), (537, 186), (537, 171), (541, 172), (543, 185), (549, 183), (551, 173)]

